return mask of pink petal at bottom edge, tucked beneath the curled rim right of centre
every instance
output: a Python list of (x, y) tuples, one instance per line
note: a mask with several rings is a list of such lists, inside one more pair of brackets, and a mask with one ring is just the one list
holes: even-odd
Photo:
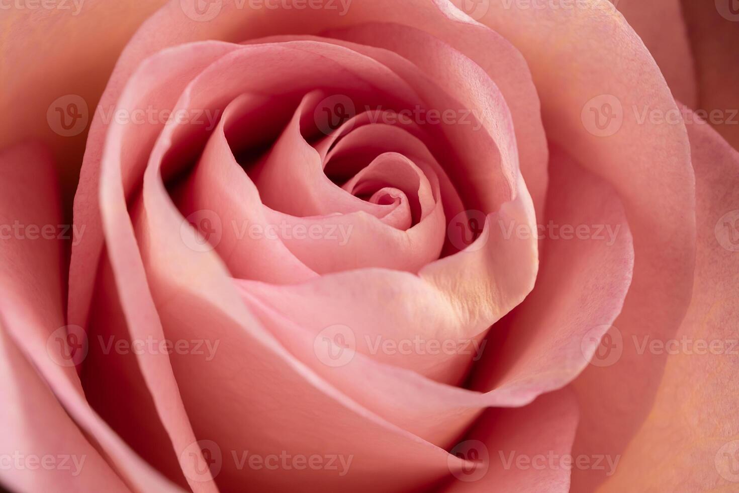
[(569, 389), (520, 409), (489, 409), (454, 448), (463, 457), (479, 457), (477, 466), (455, 475), (444, 491), (568, 492), (577, 419)]

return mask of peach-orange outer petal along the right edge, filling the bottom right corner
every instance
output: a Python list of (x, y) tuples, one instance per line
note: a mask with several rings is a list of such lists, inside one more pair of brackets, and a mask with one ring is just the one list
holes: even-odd
[(672, 356), (655, 405), (603, 492), (739, 488), (739, 153), (706, 124), (689, 126), (689, 135), (698, 198), (693, 298), (676, 342), (657, 341)]

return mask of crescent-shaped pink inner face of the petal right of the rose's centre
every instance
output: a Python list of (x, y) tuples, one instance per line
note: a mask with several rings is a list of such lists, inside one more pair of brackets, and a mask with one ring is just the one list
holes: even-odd
[(593, 356), (588, 338), (600, 339), (627, 296), (634, 254), (618, 195), (562, 149), (551, 150), (549, 169), (537, 284), (493, 327), (471, 388), (540, 393), (568, 384)]

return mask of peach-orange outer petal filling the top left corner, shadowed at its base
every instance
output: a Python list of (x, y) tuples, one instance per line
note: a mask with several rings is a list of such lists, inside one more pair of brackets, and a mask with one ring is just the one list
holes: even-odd
[[(4, 2), (0, 112), (12, 117), (0, 120), (0, 148), (24, 137), (44, 140), (55, 151), (63, 192), (71, 199), (85, 149), (84, 129), (115, 60), (139, 24), (162, 4), (163, 0)], [(52, 107), (50, 118), (55, 118), (55, 107), (63, 109), (79, 99), (86, 103), (81, 133), (60, 135), (57, 122), (47, 121), (47, 111)]]

